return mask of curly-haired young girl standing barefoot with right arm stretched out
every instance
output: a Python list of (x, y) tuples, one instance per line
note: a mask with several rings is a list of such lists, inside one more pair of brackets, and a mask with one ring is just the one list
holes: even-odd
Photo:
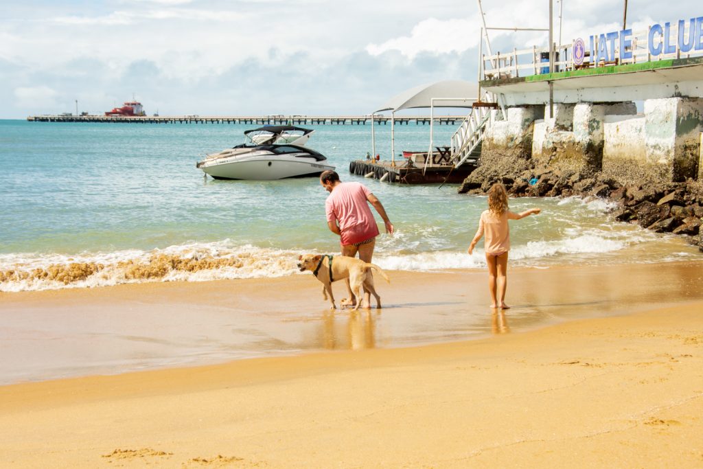
[[(488, 210), (481, 214), (479, 229), (471, 241), (469, 254), (474, 252), (476, 243), (485, 234), (484, 247), (486, 249), (486, 262), (488, 263), (488, 286), (491, 290), (491, 300), (493, 301), (491, 308), (510, 308), (504, 301), (505, 287), (508, 285), (505, 274), (508, 268), (508, 251), (510, 250), (508, 220), (519, 220), (539, 212), (541, 212), (541, 209), (538, 208), (531, 208), (522, 213), (510, 212), (508, 210), (508, 193), (505, 191), (505, 186), (498, 183), (489, 189)], [(498, 295), (500, 295), (500, 303), (498, 303)]]

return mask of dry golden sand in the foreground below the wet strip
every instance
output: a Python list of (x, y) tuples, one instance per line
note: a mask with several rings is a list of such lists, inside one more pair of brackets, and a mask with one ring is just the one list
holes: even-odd
[(479, 340), (8, 385), (0, 463), (691, 467), (701, 347), (697, 300)]

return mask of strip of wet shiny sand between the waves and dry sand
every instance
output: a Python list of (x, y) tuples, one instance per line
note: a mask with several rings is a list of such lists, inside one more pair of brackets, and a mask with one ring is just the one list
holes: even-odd
[[(486, 273), (389, 271), (384, 307), (330, 311), (308, 275), (0, 295), (0, 385), (264, 356), (425, 346), (703, 301), (702, 261), (511, 268), (503, 316)], [(344, 296), (335, 283), (335, 297)]]

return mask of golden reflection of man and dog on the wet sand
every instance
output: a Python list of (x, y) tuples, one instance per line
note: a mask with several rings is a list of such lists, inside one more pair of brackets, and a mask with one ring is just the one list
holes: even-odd
[(373, 349), (376, 347), (376, 316), (380, 311), (349, 311), (349, 314), (325, 312), (322, 319), (321, 344), (328, 350)]

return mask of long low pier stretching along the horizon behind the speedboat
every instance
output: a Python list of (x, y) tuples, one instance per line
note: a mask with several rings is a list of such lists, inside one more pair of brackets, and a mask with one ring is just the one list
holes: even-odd
[[(465, 116), (435, 116), (434, 124), (455, 125), (462, 122)], [(429, 125), (429, 116), (403, 116), (395, 117), (396, 125), (410, 124)], [(120, 115), (36, 115), (27, 117), (30, 122), (103, 122), (126, 124), (252, 124), (252, 125), (365, 125), (371, 124), (371, 117), (361, 116), (120, 116)], [(373, 123), (388, 124), (390, 117), (376, 116)]]

